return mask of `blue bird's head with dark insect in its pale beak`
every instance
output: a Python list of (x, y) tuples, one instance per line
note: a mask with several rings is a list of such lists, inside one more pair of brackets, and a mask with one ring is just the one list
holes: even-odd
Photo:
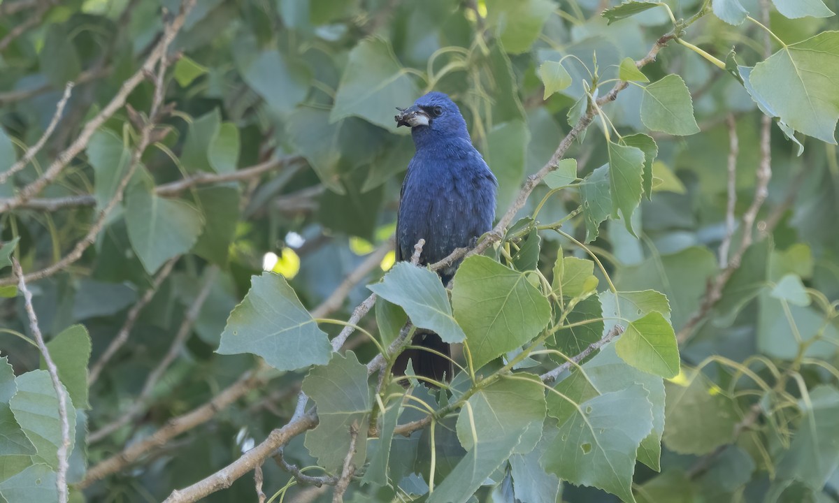
[(414, 135), (437, 132), (446, 137), (469, 137), (461, 111), (446, 94), (432, 91), (408, 108), (398, 108), (396, 127), (407, 126)]

